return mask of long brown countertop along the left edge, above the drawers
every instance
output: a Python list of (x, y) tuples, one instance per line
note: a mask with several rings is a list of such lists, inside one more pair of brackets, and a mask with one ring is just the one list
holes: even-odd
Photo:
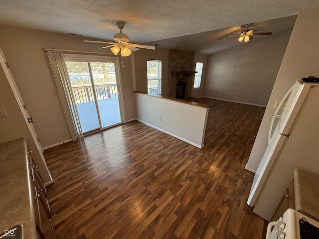
[(25, 138), (0, 143), (0, 234), (22, 224), (25, 239), (36, 239)]

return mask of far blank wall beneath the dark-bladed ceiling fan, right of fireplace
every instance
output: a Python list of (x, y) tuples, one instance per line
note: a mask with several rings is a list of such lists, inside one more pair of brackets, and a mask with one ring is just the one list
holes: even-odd
[(266, 106), (291, 30), (209, 55), (202, 96)]

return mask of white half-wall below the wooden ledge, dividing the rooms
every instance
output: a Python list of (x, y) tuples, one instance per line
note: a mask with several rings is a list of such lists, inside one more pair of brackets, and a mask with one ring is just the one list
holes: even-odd
[(135, 93), (135, 101), (139, 121), (198, 148), (204, 146), (207, 108), (143, 93)]

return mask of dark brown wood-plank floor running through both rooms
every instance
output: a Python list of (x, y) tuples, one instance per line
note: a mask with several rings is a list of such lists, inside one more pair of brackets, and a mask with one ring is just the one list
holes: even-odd
[(264, 108), (211, 105), (204, 147), (132, 121), (45, 150), (57, 239), (261, 239), (245, 170)]

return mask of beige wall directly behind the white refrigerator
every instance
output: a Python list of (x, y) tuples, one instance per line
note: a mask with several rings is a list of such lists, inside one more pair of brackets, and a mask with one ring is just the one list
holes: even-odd
[[(319, 8), (302, 11), (297, 17), (264, 117), (259, 127), (246, 169), (256, 171), (268, 144), (268, 129), (275, 109), (297, 79), (319, 77)], [(309, 33), (309, 34), (308, 34)], [(311, 135), (310, 135), (311, 136)], [(314, 138), (318, 140), (318, 138)]]

